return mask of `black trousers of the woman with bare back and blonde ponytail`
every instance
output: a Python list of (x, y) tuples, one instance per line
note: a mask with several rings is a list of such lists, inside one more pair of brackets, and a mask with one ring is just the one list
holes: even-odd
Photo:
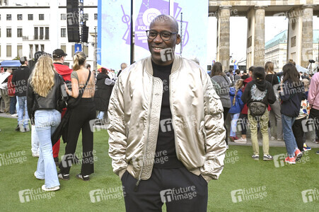
[[(93, 165), (93, 131), (90, 128), (90, 120), (95, 119), (95, 105), (92, 98), (81, 98), (81, 102), (71, 111), (69, 119), (68, 139), (65, 154), (59, 163), (60, 171), (69, 174), (70, 167), (74, 163), (74, 153), (82, 129), (82, 160), (81, 175), (91, 175), (94, 172)], [(79, 157), (78, 157), (79, 158)]]

